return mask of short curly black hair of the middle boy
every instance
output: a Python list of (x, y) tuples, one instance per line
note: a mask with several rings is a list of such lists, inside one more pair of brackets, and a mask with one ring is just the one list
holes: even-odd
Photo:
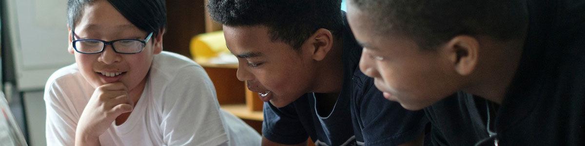
[(295, 50), (318, 29), (339, 37), (343, 30), (340, 0), (209, 0), (211, 18), (226, 26), (266, 26), (273, 41)]

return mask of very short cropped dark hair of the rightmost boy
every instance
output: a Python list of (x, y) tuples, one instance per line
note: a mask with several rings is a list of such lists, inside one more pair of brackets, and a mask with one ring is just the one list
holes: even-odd
[(528, 11), (522, 0), (350, 0), (373, 18), (381, 35), (403, 34), (426, 49), (461, 34), (500, 41), (522, 38)]

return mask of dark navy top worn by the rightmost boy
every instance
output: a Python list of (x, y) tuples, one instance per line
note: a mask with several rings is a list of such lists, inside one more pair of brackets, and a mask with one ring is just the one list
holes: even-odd
[(433, 145), (585, 145), (585, 1), (528, 1), (528, 12), (502, 104), (459, 92), (426, 108)]

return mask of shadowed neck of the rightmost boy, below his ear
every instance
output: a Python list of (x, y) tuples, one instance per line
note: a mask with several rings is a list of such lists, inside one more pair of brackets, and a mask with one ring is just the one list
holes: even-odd
[(483, 61), (478, 63), (483, 65), (478, 67), (479, 80), (465, 91), (501, 105), (518, 69), (523, 45), (518, 41), (484, 43), (481, 47), (487, 49), (482, 50)]

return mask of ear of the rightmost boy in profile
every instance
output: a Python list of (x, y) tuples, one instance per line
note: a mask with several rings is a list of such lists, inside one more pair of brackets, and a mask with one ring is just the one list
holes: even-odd
[(479, 40), (472, 36), (455, 36), (442, 48), (460, 75), (470, 75), (479, 60)]

